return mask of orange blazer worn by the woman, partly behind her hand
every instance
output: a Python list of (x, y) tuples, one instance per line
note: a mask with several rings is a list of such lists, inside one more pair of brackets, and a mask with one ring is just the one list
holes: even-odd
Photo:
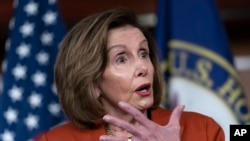
[[(166, 125), (171, 111), (157, 108), (151, 111), (151, 120)], [(180, 120), (181, 141), (225, 141), (222, 128), (212, 118), (194, 112), (183, 112)], [(105, 134), (104, 126), (96, 129), (81, 129), (73, 123), (57, 126), (44, 133), (39, 141), (99, 141)]]

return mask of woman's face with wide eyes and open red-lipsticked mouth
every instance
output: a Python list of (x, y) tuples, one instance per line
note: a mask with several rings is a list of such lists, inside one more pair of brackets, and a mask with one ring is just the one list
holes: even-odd
[(108, 34), (108, 63), (99, 83), (101, 102), (108, 113), (125, 101), (145, 111), (153, 104), (154, 67), (143, 33), (126, 25)]

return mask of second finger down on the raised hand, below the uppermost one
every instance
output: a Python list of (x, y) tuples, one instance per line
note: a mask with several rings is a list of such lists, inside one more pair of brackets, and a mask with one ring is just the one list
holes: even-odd
[(117, 117), (114, 117), (114, 116), (111, 116), (111, 115), (105, 115), (103, 117), (103, 120), (105, 122), (109, 123), (109, 124), (120, 127), (122, 129), (134, 134), (134, 135), (139, 135), (139, 132), (136, 130), (136, 128), (132, 124), (130, 124), (130, 123), (124, 121), (124, 120), (121, 120), (121, 119), (119, 119)]

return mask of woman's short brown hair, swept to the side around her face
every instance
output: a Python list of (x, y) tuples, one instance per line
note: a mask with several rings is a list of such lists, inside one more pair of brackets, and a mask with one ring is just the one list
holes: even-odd
[(93, 14), (68, 32), (55, 64), (55, 82), (63, 111), (79, 127), (94, 128), (105, 114), (93, 93), (108, 60), (108, 32), (124, 25), (140, 29), (148, 40), (150, 59), (155, 70), (152, 108), (160, 104), (162, 75), (150, 32), (138, 24), (136, 14), (130, 10), (113, 9)]

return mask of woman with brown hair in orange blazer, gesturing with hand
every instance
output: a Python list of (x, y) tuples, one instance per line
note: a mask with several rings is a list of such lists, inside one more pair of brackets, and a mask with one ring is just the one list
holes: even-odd
[(210, 117), (159, 108), (162, 75), (153, 37), (131, 11), (79, 22), (64, 38), (55, 81), (68, 123), (41, 141), (224, 141)]

